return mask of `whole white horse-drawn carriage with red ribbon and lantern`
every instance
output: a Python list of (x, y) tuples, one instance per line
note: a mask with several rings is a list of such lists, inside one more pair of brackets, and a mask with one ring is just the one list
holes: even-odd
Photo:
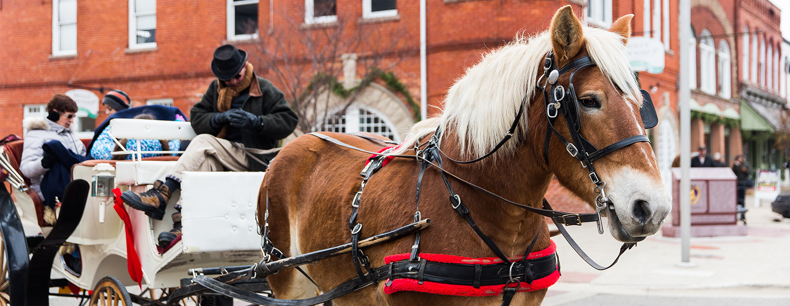
[[(116, 140), (190, 140), (196, 136), (189, 122), (113, 119), (110, 126)], [(120, 216), (125, 214), (114, 209), (117, 204), (112, 189), (144, 191), (154, 181), (165, 177), (178, 157), (141, 159), (141, 154), (174, 152), (145, 152), (138, 148), (137, 151), (114, 152), (132, 155), (131, 160), (88, 160), (73, 166), (73, 181), (66, 188), (58, 209), (58, 222), (48, 226), (41, 216), (42, 201), (36, 192), (29, 192), (26, 179), (19, 172), (22, 141), (2, 147), (2, 166), (9, 172), (6, 181), (13, 190), (16, 204), (11, 205), (12, 198), (7, 194), (0, 199), (5, 200), (0, 206), (16, 207), (4, 210), (3, 215), (2, 234), (6, 248), (0, 250), (8, 249), (8, 259), (2, 261), (4, 270), (0, 274), (4, 284), (0, 287), (2, 305), (47, 303), (50, 288), (56, 286), (64, 288), (61, 291), (71, 287), (65, 291), (72, 292), (52, 294), (89, 298), (91, 304), (103, 305), (107, 297), (119, 301), (111, 303), (113, 305), (145, 304), (151, 300), (162, 304), (170, 289), (180, 287), (181, 279), (190, 276), (190, 268), (224, 267), (220, 271), (228, 271), (236, 266), (250, 266), (261, 259), (261, 237), (255, 213), (258, 189), (264, 177), (262, 172), (184, 173), (182, 190), (175, 192), (167, 206), (169, 216), (175, 212), (175, 203), (179, 199), (182, 201), (182, 237), (165, 250), (158, 247), (156, 237), (172, 228), (171, 219), (156, 221), (141, 211), (121, 206), (128, 214), (130, 226), (126, 226)], [(88, 182), (91, 185), (89, 194)], [(86, 194), (83, 208), (79, 202)], [(76, 205), (73, 202), (77, 202)], [(15, 222), (14, 214), (21, 220)], [(24, 240), (20, 239), (19, 225), (24, 229)], [(28, 245), (23, 250), (21, 242), (24, 241)], [(129, 245), (130, 241), (134, 245)], [(55, 251), (64, 242), (78, 248), (76, 260), (80, 268), (67, 264), (75, 260), (69, 257), (72, 255)], [(136, 250), (136, 254), (127, 250)], [(24, 263), (28, 253), (32, 254), (32, 259)], [(50, 267), (63, 279), (51, 280)], [(136, 271), (141, 271), (141, 277), (132, 276)], [(130, 296), (125, 286), (137, 285), (137, 281), (145, 285), (141, 287), (145, 288), (144, 294)], [(90, 290), (92, 294), (90, 297), (81, 294), (82, 290), (74, 290), (75, 286), (85, 292)], [(258, 289), (267, 289), (265, 282), (259, 283)], [(199, 299), (192, 297), (195, 302)]]

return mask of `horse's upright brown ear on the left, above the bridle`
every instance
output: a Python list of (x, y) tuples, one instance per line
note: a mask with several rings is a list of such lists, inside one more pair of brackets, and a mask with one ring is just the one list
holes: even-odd
[(579, 22), (574, 9), (563, 6), (551, 19), (551, 46), (554, 48), (557, 65), (562, 67), (574, 58), (581, 46), (584, 45), (584, 36), (581, 34)]

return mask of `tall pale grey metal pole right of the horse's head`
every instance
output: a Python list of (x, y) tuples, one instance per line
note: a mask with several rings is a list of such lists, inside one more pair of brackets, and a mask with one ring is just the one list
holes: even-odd
[(679, 86), (679, 106), (680, 106), (680, 239), (681, 239), (681, 262), (680, 267), (694, 267), (689, 262), (691, 247), (691, 181), (689, 168), (691, 166), (691, 111), (689, 100), (691, 92), (689, 88), (689, 56), (691, 37), (691, 5), (690, 0), (679, 0), (678, 26), (680, 28), (680, 77)]

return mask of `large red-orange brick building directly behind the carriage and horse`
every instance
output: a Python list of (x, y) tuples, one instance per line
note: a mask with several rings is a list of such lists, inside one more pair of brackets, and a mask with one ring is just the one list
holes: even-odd
[[(651, 137), (661, 169), (667, 170), (679, 147), (677, 0), (427, 0), (427, 103), (440, 106), (453, 80), (478, 62), (482, 52), (506, 43), (518, 32), (544, 31), (556, 9), (568, 4), (585, 22), (600, 27), (633, 13), (633, 35), (650, 36), (664, 45), (663, 72), (641, 72), (640, 79), (642, 88), (653, 95), (660, 116)], [(359, 113), (346, 114), (348, 122), (357, 117), (379, 117), (388, 122), (389, 132), (397, 134), (418, 117), (406, 94), (420, 99), (419, 25), (419, 1), (6, 2), (0, 7), (0, 41), (4, 42), (0, 48), (0, 112), (6, 117), (0, 134), (21, 134), (24, 116), (41, 115), (41, 106), (52, 95), (73, 89), (91, 91), (98, 99), (109, 89), (121, 89), (134, 105), (168, 104), (188, 114), (214, 78), (209, 62), (213, 50), (223, 43), (250, 50), (251, 62), (259, 67), (256, 71), (278, 87), (284, 86), (264, 64), (255, 62), (259, 46), (271, 46), (261, 42), (281, 28), (308, 33), (332, 27), (344, 28), (347, 34), (343, 37), (347, 38), (363, 28), (403, 33), (406, 39), (398, 43), (397, 52), (407, 55), (389, 71), (404, 84), (406, 92), (395, 92), (378, 82), (359, 100)], [(383, 44), (386, 39), (368, 40)], [(345, 69), (340, 79), (361, 75), (362, 65), (354, 68), (347, 64), (366, 56), (338, 58), (337, 65), (342, 62)], [(427, 108), (428, 114), (435, 112), (434, 107)], [(90, 118), (86, 111), (81, 111), (81, 116), (78, 126), (85, 136), (105, 118), (103, 114)], [(552, 188), (550, 198), (568, 199), (557, 198), (561, 194), (557, 192)]]

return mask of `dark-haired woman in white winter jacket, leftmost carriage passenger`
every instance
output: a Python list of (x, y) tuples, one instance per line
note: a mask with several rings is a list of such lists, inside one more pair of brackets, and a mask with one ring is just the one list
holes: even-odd
[[(43, 144), (58, 140), (66, 149), (85, 156), (85, 144), (70, 129), (76, 114), (77, 103), (67, 95), (57, 94), (47, 103), (47, 118), (24, 120), (24, 127), (28, 132), (24, 136), (19, 168), (22, 175), (30, 179), (30, 188), (38, 193), (42, 200), (44, 197), (41, 193), (41, 180), (55, 162), (51, 157), (44, 156)], [(55, 213), (44, 211), (44, 220), (54, 224)]]

